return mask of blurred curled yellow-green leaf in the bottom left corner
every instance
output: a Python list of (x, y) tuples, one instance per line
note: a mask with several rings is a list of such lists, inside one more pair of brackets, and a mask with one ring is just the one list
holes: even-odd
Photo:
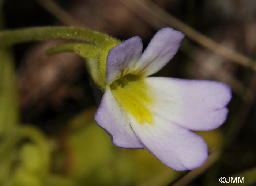
[(48, 143), (37, 128), (14, 127), (0, 143), (0, 185), (41, 186), (49, 158)]

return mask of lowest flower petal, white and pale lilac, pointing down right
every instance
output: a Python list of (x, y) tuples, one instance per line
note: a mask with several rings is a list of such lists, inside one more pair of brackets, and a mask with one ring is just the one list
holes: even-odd
[(174, 170), (200, 167), (208, 158), (202, 137), (158, 115), (154, 116), (154, 124), (141, 125), (133, 118), (131, 126), (147, 150)]

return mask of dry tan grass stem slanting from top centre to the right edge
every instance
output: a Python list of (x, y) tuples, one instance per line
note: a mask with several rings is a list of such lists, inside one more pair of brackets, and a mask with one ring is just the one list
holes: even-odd
[[(256, 71), (255, 61), (252, 61), (250, 58), (246, 57), (243, 54), (240, 54), (234, 50), (231, 50), (214, 40), (208, 38), (207, 36), (200, 34), (193, 28), (189, 27), (187, 24), (182, 23), (180, 20), (174, 18), (172, 15), (164, 11), (162, 8), (158, 7), (156, 4), (152, 3), (149, 0), (120, 0), (122, 3), (127, 5), (132, 11), (138, 14), (142, 19), (151, 24), (156, 29), (164, 27), (164, 25), (171, 26), (177, 30), (183, 32), (188, 38), (199, 43), (201, 46), (206, 47), (207, 49), (222, 55), (223, 57), (230, 59), (233, 62), (236, 62), (239, 65), (250, 67)], [(153, 19), (151, 19), (154, 17)], [(149, 19), (150, 18), (150, 19)], [(154, 21), (155, 19), (158, 20)], [(159, 23), (159, 21), (161, 23)]]

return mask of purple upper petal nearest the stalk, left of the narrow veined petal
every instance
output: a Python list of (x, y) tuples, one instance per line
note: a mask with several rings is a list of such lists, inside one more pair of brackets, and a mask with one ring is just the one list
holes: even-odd
[(142, 53), (142, 41), (135, 36), (117, 44), (109, 50), (107, 56), (106, 81), (110, 85), (114, 80), (123, 77), (133, 70), (134, 63)]

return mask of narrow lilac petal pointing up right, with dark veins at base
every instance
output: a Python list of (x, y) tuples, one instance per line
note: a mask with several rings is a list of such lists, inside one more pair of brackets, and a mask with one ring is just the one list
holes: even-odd
[(172, 28), (159, 30), (136, 63), (136, 74), (149, 76), (156, 73), (172, 59), (178, 51), (184, 34)]

